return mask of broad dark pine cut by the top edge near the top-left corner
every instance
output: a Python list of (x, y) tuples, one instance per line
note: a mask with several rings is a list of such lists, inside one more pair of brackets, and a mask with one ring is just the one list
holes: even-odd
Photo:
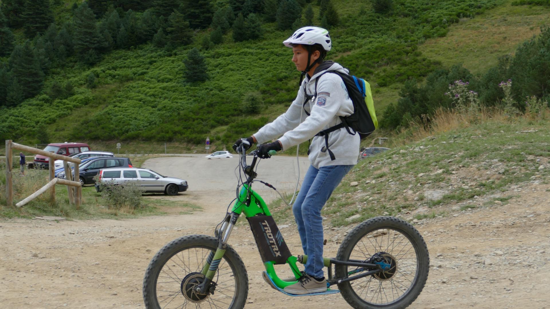
[(37, 32), (46, 31), (48, 26), (53, 23), (50, 0), (27, 1), (23, 11), (23, 20), (27, 37), (34, 37)]

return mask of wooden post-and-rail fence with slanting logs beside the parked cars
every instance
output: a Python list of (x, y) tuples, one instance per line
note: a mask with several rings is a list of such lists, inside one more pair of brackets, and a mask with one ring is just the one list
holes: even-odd
[[(5, 164), (5, 167), (6, 167), (6, 169), (5, 169), (6, 170), (6, 172), (5, 172), (6, 173), (6, 177), (5, 177), (6, 186), (5, 187), (6, 187), (7, 206), (12, 206), (13, 205), (13, 183), (12, 183), (13, 149), (26, 151), (26, 152), (31, 152), (31, 153), (34, 153), (34, 154), (42, 154), (42, 156), (46, 156), (46, 157), (50, 158), (50, 161), (48, 163), (48, 165), (50, 167), (50, 169), (49, 169), (50, 182), (47, 183), (45, 186), (41, 187), (40, 189), (38, 189), (38, 191), (31, 194), (29, 197), (25, 198), (23, 201), (20, 201), (19, 203), (17, 203), (15, 206), (21, 207), (21, 206), (25, 205), (26, 203), (28, 203), (31, 200), (33, 200), (34, 198), (36, 198), (38, 195), (41, 195), (43, 192), (46, 192), (48, 189), (50, 189), (50, 202), (53, 203), (53, 202), (55, 202), (55, 198), (56, 198), (56, 186), (55, 185), (60, 184), (60, 185), (66, 185), (67, 186), (67, 190), (68, 190), (68, 194), (69, 194), (69, 202), (74, 203), (74, 205), (76, 205), (76, 209), (80, 208), (80, 203), (81, 203), (81, 198), (82, 198), (82, 184), (80, 184), (80, 181), (73, 181), (73, 177), (72, 177), (73, 173), (70, 172), (69, 165), (67, 164), (67, 162), (73, 162), (74, 163), (74, 173), (75, 173), (75, 178), (76, 178), (79, 175), (79, 166), (78, 165), (80, 164), (81, 160), (76, 159), (76, 158), (72, 158), (72, 157), (62, 156), (61, 154), (57, 154), (57, 153), (53, 153), (53, 152), (43, 151), (43, 150), (40, 150), (40, 149), (37, 149), (37, 148), (32, 148), (32, 147), (29, 147), (29, 146), (25, 146), (25, 145), (20, 145), (20, 144), (12, 142), (12, 140), (6, 140), (5, 141), (5, 163), (6, 163)], [(67, 177), (66, 180), (55, 178), (55, 175), (54, 175), (54, 162), (56, 160), (64, 161), (63, 162), (63, 167), (65, 169), (65, 177)]]

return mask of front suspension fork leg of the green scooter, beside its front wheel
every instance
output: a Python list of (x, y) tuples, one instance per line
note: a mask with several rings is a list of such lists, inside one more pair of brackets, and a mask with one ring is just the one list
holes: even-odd
[(219, 262), (222, 261), (222, 257), (226, 253), (227, 240), (229, 239), (229, 235), (231, 235), (235, 223), (237, 223), (237, 219), (239, 219), (239, 214), (232, 212), (228, 214), (226, 220), (224, 220), (218, 235), (218, 248), (216, 252), (210, 251), (210, 254), (208, 254), (206, 258), (205, 266), (202, 267), (201, 273), (205, 275), (205, 280), (202, 284), (196, 286), (195, 290), (197, 293), (206, 294), (213, 283), (212, 279), (214, 275), (216, 275)]

